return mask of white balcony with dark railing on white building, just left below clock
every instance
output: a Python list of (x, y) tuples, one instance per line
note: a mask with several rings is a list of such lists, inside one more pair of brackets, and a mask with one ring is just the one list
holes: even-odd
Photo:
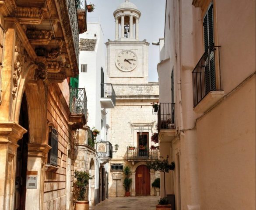
[(112, 84), (101, 84), (101, 107), (113, 109), (116, 106), (116, 93)]

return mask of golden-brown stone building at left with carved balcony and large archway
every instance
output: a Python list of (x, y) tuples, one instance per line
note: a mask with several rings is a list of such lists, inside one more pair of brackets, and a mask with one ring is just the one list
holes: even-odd
[[(85, 5), (0, 2), (0, 206), (73, 209), (74, 131), (86, 124), (78, 75)], [(80, 8), (80, 9), (77, 9)], [(78, 105), (79, 103), (79, 105)]]

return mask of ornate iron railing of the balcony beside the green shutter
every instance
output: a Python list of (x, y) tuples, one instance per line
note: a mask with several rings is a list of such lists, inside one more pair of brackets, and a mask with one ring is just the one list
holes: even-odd
[(84, 88), (70, 88), (70, 112), (87, 115), (87, 97)]

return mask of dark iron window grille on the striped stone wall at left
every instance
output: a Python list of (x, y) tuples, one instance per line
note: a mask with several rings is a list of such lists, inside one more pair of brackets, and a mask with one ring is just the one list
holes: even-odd
[(48, 153), (48, 164), (58, 165), (58, 131), (50, 127), (51, 131), (49, 132), (49, 145), (52, 147)]

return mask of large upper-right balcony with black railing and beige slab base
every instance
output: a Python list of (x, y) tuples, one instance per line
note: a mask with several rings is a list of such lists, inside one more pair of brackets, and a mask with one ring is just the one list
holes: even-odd
[(192, 72), (196, 113), (204, 113), (224, 96), (224, 91), (221, 90), (219, 48), (209, 46)]

